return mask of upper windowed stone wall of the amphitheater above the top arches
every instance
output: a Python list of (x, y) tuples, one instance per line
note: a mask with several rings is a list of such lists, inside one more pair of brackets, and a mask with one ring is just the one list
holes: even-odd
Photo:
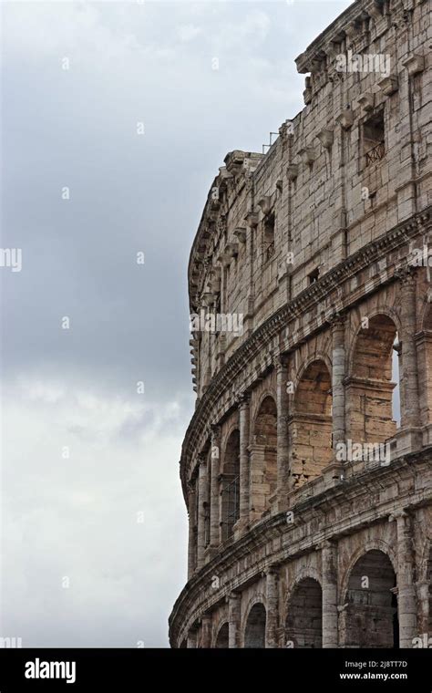
[(199, 398), (269, 315), (432, 202), (430, 16), (355, 2), (296, 59), (301, 113), (265, 156), (225, 158), (190, 253)]

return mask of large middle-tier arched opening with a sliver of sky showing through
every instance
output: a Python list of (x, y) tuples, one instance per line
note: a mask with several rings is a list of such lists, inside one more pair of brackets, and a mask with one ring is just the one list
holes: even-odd
[[(357, 335), (347, 385), (347, 429), (353, 443), (385, 443), (396, 434), (399, 392), (397, 333), (387, 315), (370, 318)], [(395, 416), (394, 416), (395, 410)]]

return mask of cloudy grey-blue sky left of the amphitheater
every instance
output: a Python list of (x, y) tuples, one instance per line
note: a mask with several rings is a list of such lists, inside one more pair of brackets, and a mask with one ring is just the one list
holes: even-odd
[(302, 109), (293, 59), (348, 5), (2, 3), (2, 247), (23, 269), (0, 269), (1, 636), (168, 646), (190, 244), (225, 154)]

